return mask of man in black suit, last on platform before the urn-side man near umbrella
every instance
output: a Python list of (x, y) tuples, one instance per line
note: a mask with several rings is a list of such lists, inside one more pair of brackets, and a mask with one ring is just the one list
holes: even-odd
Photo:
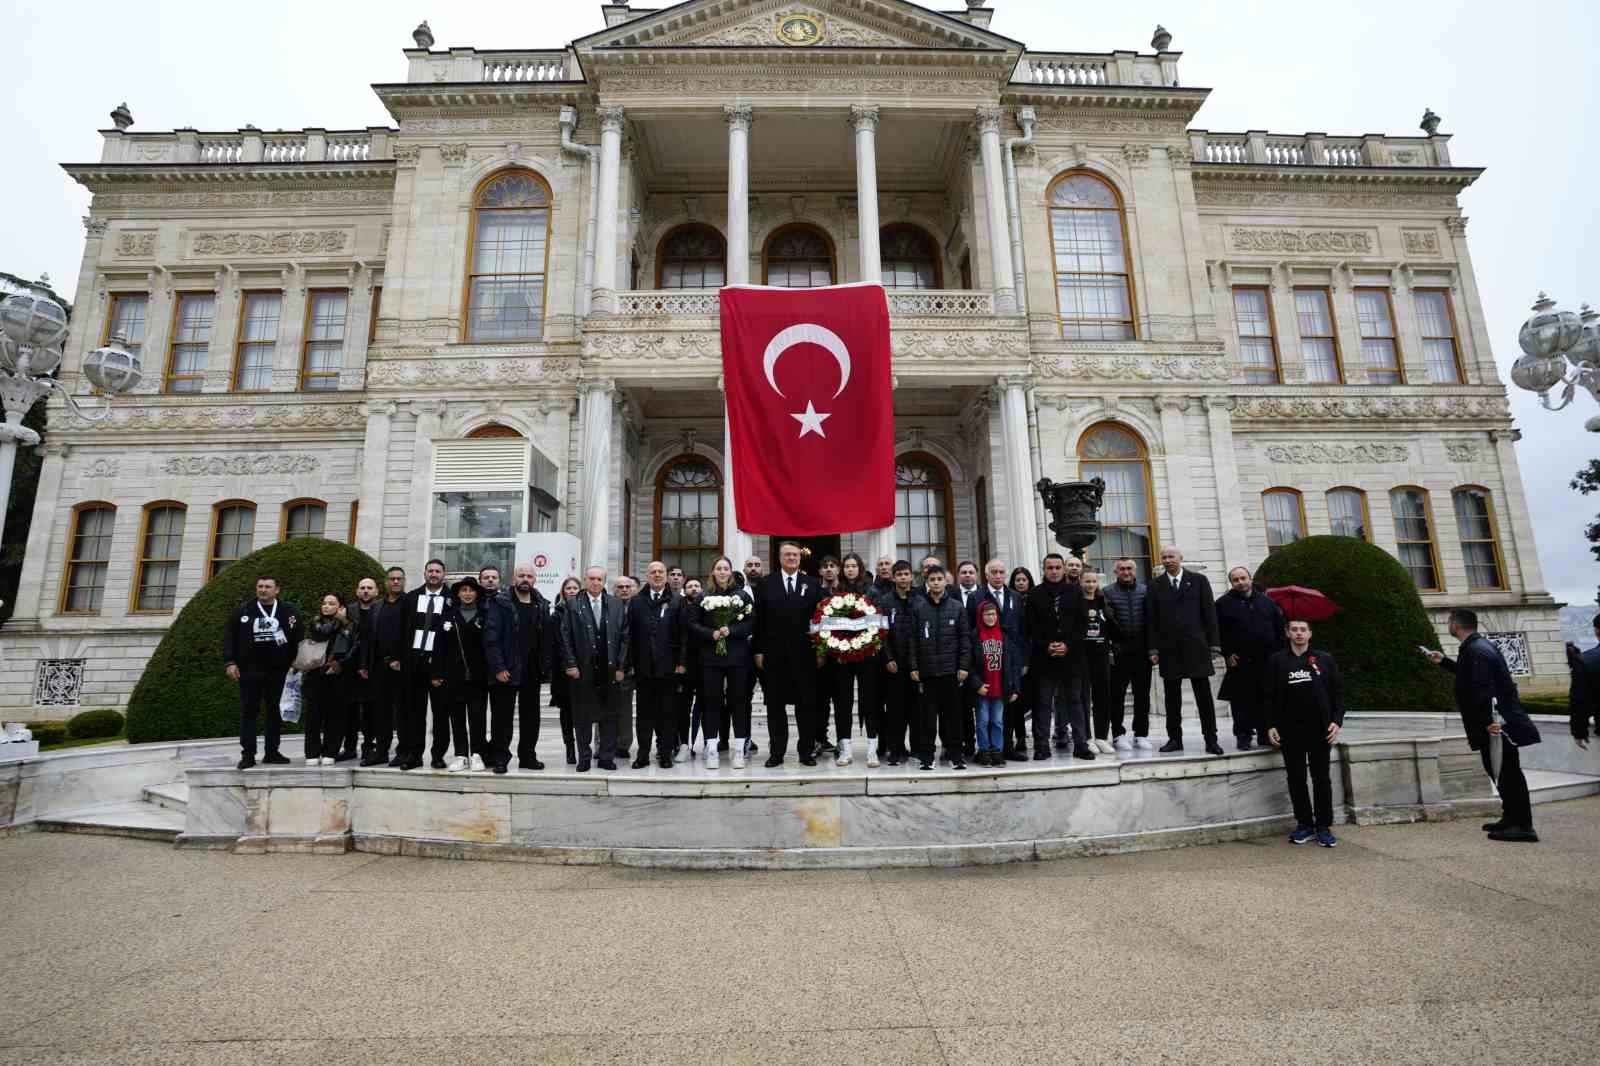
[(1184, 570), (1184, 554), (1162, 549), (1162, 573), (1150, 578), (1144, 602), (1144, 632), (1150, 663), (1162, 671), (1166, 690), (1166, 743), (1162, 751), (1184, 749), (1184, 679), (1195, 693), (1205, 749), (1221, 755), (1216, 743), (1216, 704), (1211, 701), (1211, 655), (1219, 650), (1216, 597), (1205, 575)]

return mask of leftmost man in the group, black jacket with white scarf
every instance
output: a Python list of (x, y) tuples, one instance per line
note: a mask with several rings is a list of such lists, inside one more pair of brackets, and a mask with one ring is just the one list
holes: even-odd
[(267, 749), (261, 762), (272, 767), (290, 762), (278, 751), (278, 701), (302, 632), (299, 608), (278, 600), (278, 579), (270, 575), (256, 578), (256, 599), (227, 616), (222, 663), (229, 680), (238, 682), (240, 770), (256, 765), (256, 715), (262, 704), (267, 707)]

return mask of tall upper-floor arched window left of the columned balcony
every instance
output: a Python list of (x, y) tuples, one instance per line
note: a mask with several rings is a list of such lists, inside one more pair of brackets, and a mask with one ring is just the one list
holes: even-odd
[(467, 271), (469, 341), (536, 341), (544, 331), (550, 190), (526, 170), (478, 187)]

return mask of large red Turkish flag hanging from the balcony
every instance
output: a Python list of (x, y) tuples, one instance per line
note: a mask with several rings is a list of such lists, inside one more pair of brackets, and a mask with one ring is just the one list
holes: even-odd
[(722, 290), (733, 503), (746, 533), (894, 525), (882, 285)]

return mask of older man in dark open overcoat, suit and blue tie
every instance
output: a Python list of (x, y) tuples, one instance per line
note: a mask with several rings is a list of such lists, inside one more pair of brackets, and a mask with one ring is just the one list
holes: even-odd
[(598, 727), (595, 765), (616, 770), (616, 725), (627, 677), (629, 632), (622, 602), (605, 592), (605, 567), (584, 571), (584, 591), (560, 611), (562, 667), (573, 679), (573, 738), (578, 773), (589, 771), (589, 743)]

